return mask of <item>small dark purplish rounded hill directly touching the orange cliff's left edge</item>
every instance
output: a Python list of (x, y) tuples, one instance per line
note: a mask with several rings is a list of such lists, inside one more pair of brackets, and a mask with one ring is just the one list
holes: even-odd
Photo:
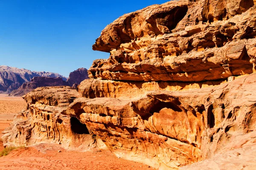
[(88, 79), (88, 73), (86, 68), (79, 68), (70, 73), (67, 82), (69, 85), (76, 86), (79, 85), (84, 79)]

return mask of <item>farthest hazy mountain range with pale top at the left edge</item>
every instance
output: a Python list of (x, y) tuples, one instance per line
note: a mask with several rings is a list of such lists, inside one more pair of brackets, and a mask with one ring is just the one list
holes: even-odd
[(33, 77), (61, 77), (64, 81), (67, 80), (67, 77), (58, 73), (30, 71), (24, 68), (0, 65), (0, 93), (9, 94), (24, 82), (30, 82)]

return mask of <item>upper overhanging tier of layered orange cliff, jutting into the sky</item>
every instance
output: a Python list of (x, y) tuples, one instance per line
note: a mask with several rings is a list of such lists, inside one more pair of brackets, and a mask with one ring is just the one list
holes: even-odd
[(94, 61), (89, 77), (201, 82), (251, 74), (254, 3), (180, 0), (125, 14), (108, 25), (93, 45), (111, 56)]

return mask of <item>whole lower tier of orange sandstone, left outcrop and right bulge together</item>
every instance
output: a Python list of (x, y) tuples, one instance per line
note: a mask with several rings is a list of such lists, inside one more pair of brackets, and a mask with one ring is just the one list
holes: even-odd
[[(226, 152), (245, 154), (241, 150), (254, 148), (255, 90), (256, 74), (215, 87), (151, 91), (134, 99), (79, 98), (69, 87), (37, 88), (24, 97), (28, 110), (3, 132), (3, 141), (5, 146), (50, 142), (79, 150), (104, 142), (122, 158), (178, 169), (210, 161), (215, 154), (229, 158)], [(245, 167), (255, 160), (243, 158)]]

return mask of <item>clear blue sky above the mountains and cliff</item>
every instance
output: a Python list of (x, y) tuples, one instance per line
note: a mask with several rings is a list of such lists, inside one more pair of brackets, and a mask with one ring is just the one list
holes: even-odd
[(1, 0), (0, 65), (68, 77), (109, 54), (93, 51), (119, 16), (169, 0)]

